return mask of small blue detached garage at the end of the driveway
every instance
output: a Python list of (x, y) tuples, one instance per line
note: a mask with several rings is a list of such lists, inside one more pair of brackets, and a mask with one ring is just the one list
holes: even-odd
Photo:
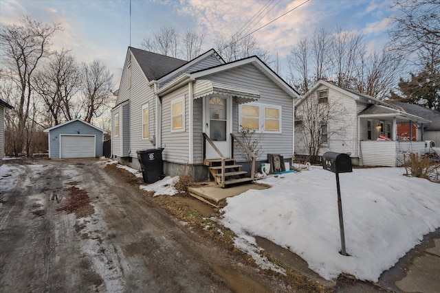
[(49, 157), (52, 159), (102, 156), (102, 139), (107, 133), (80, 119), (58, 124), (44, 132), (49, 133)]

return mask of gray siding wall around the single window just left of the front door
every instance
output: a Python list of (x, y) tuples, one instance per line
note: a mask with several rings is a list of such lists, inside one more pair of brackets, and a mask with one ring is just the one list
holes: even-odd
[[(185, 101), (185, 131), (171, 132), (171, 102), (181, 97), (184, 97)], [(164, 148), (162, 156), (164, 161), (182, 164), (189, 161), (188, 107), (188, 85), (162, 97), (162, 148)]]

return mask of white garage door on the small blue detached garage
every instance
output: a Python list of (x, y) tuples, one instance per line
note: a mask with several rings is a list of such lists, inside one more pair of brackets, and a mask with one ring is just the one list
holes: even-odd
[(91, 158), (95, 156), (95, 137), (61, 136), (61, 158)]

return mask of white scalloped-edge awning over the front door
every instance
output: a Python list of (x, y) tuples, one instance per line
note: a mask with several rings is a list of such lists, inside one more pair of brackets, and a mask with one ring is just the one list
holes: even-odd
[(257, 101), (260, 98), (259, 91), (247, 89), (241, 86), (221, 84), (210, 80), (196, 80), (194, 84), (194, 99), (206, 97), (207, 95), (232, 95), (236, 97), (239, 104)]

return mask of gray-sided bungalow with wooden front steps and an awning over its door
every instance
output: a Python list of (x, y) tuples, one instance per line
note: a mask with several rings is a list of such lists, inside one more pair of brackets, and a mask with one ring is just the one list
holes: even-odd
[(236, 178), (245, 161), (237, 145), (242, 128), (259, 138), (263, 154), (255, 161), (291, 158), (296, 97), (256, 56), (225, 63), (211, 49), (187, 62), (129, 47), (111, 114), (113, 158), (139, 169), (137, 151), (164, 148), (165, 174), (210, 172), (224, 187), (243, 179)]

